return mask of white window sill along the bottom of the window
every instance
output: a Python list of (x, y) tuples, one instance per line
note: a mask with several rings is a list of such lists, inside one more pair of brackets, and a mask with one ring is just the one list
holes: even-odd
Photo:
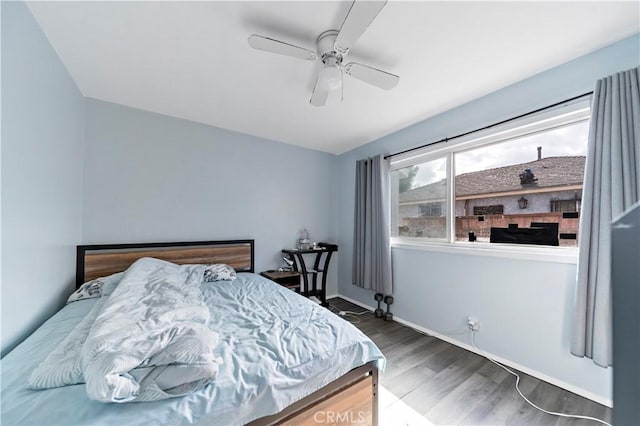
[(540, 262), (577, 264), (577, 247), (546, 247), (535, 245), (515, 245), (470, 242), (416, 241), (406, 238), (392, 238), (391, 247), (403, 250), (434, 251), (471, 256), (489, 256), (502, 259), (536, 260)]

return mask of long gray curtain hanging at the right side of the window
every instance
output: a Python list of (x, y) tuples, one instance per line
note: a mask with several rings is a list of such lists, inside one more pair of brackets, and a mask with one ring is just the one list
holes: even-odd
[(640, 199), (640, 68), (599, 80), (580, 218), (571, 353), (612, 365), (611, 221)]

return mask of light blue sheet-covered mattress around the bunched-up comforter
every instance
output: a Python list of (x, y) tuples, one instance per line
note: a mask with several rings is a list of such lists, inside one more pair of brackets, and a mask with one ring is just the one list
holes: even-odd
[(84, 385), (31, 390), (35, 367), (97, 299), (66, 305), (0, 361), (2, 424), (245, 424), (275, 414), (351, 369), (385, 359), (330, 311), (265, 278), (203, 283), (223, 361), (214, 383), (180, 398), (105, 404)]

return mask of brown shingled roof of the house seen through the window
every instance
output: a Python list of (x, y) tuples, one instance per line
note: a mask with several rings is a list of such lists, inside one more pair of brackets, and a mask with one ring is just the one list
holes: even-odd
[[(528, 163), (464, 173), (456, 176), (456, 197), (582, 185), (584, 163), (584, 156), (548, 157)], [(531, 169), (535, 175), (537, 181), (534, 184), (520, 183), (520, 174), (526, 169)], [(399, 201), (411, 203), (444, 200), (445, 194), (446, 181), (443, 179), (400, 193)]]

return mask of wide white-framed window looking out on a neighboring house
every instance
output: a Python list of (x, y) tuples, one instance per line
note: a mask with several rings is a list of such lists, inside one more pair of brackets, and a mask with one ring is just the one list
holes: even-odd
[(392, 237), (576, 246), (588, 130), (575, 102), (394, 159)]

